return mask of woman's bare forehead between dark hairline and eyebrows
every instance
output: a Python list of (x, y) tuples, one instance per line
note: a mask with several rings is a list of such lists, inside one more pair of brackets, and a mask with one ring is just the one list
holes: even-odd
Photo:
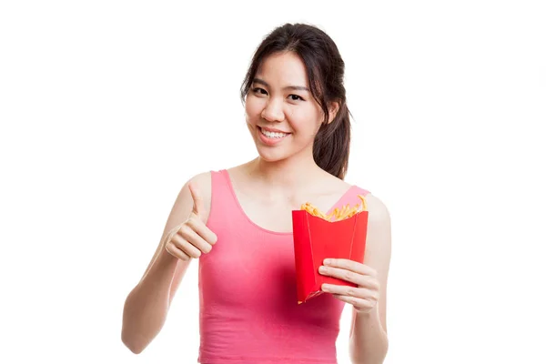
[(264, 79), (271, 86), (308, 86), (305, 64), (293, 52), (275, 53), (264, 58), (256, 77)]

